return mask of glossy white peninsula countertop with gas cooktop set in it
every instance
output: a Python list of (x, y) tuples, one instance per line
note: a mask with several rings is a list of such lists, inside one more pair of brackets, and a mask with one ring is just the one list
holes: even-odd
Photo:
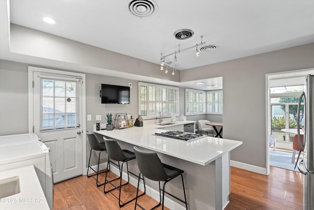
[(185, 142), (154, 135), (156, 132), (161, 131), (160, 128), (193, 122), (195, 121), (176, 121), (174, 124), (161, 126), (158, 124), (145, 125), (144, 121), (143, 127), (133, 126), (108, 131), (97, 131), (95, 129), (94, 132), (200, 165), (207, 165), (242, 144), (240, 141), (215, 137), (204, 137), (195, 141)]

